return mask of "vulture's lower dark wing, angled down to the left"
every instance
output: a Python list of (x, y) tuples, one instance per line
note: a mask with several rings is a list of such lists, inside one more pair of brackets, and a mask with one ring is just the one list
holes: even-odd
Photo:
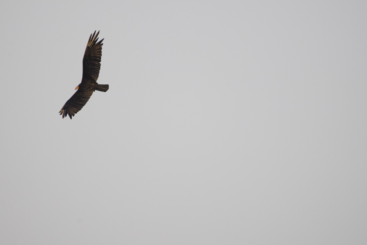
[(59, 111), (62, 118), (69, 115), (70, 119), (72, 119), (72, 116), (75, 116), (75, 114), (87, 103), (89, 98), (92, 96), (92, 93), (93, 90), (77, 90)]

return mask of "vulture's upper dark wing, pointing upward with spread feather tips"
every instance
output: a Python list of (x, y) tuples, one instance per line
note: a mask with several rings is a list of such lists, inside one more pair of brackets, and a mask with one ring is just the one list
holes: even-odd
[(102, 56), (102, 41), (98, 41), (98, 34), (90, 35), (86, 51), (84, 52), (83, 57), (83, 78), (81, 79), (81, 83), (85, 81), (93, 80), (97, 82), (99, 69), (101, 69), (101, 56)]

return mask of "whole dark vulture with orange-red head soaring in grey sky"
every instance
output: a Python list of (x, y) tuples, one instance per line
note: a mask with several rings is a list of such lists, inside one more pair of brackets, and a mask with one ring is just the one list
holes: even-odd
[(77, 91), (66, 101), (65, 105), (59, 111), (62, 118), (69, 115), (70, 119), (72, 119), (87, 103), (95, 90), (102, 92), (108, 90), (108, 84), (97, 83), (99, 69), (101, 69), (102, 41), (104, 39), (97, 43), (98, 34), (99, 31), (97, 34), (94, 32), (89, 37), (83, 57), (83, 76), (81, 83), (76, 86), (75, 90)]

